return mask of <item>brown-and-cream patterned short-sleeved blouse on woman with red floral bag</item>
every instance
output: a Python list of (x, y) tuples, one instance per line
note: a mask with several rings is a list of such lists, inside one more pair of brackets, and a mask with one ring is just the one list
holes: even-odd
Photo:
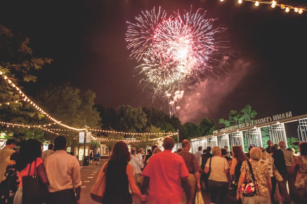
[[(263, 197), (270, 198), (270, 191), (269, 187), (267, 186), (266, 180), (270, 178), (270, 173), (268, 169), (266, 169), (266, 166), (261, 161), (255, 161), (250, 159), (251, 167), (253, 169), (253, 173), (255, 175), (255, 179), (258, 184), (258, 194)], [(246, 172), (245, 179), (249, 180), (251, 179), (251, 171), (249, 170), (249, 166), (247, 164), (247, 161), (243, 161), (241, 171)]]

